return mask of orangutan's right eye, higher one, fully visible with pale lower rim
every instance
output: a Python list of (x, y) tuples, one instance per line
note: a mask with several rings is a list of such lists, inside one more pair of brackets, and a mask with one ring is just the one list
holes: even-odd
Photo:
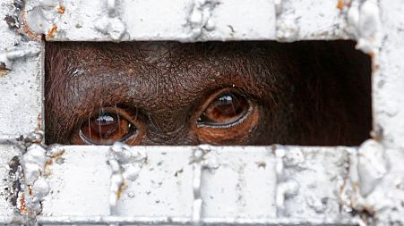
[(211, 101), (197, 124), (208, 127), (233, 126), (243, 121), (252, 109), (251, 102), (245, 96), (224, 93)]

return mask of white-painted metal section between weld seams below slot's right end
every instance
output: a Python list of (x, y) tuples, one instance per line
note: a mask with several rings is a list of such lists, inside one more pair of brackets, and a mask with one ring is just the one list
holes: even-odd
[(340, 187), (347, 177), (344, 165), (349, 147), (285, 147), (285, 175), (295, 180), (299, 190), (286, 200), (285, 216), (338, 219)]

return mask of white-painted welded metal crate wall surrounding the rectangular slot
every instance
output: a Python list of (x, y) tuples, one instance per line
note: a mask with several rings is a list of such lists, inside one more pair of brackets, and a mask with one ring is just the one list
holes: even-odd
[[(13, 7), (23, 4), (17, 0), (0, 4), (0, 187), (9, 189), (0, 193), (1, 223), (404, 223), (404, 4), (400, 0), (27, 0), (21, 9)], [(116, 204), (110, 200), (114, 191), (105, 162), (108, 147), (60, 146), (47, 154), (64, 149), (58, 156), (64, 162), (54, 159), (40, 169), (49, 172), (44, 181), (50, 187), (37, 215), (34, 212), (40, 208), (32, 198), (38, 196), (31, 196), (26, 186), (17, 204), (10, 202), (13, 178), (8, 164), (14, 156), (22, 158), (27, 146), (39, 148), (30, 146), (38, 136), (30, 132), (43, 128), (41, 34), (49, 41), (355, 39), (358, 48), (373, 55), (373, 139), (358, 148), (216, 147), (211, 152), (219, 155), (215, 161), (222, 165), (203, 169), (202, 177), (197, 168), (202, 163), (186, 161), (199, 147), (133, 147), (131, 152), (150, 155), (150, 162), (142, 165), (139, 177), (126, 185)], [(20, 136), (26, 139), (17, 141)], [(81, 155), (75, 155), (78, 152)], [(178, 164), (170, 161), (176, 155)], [(226, 161), (234, 165), (224, 166)], [(183, 165), (183, 172), (177, 173), (181, 180), (172, 176), (178, 165)], [(74, 176), (79, 169), (81, 174)], [(224, 175), (232, 179), (229, 184), (221, 181)], [(201, 188), (202, 199), (196, 188)], [(116, 215), (109, 215), (111, 202)]]

